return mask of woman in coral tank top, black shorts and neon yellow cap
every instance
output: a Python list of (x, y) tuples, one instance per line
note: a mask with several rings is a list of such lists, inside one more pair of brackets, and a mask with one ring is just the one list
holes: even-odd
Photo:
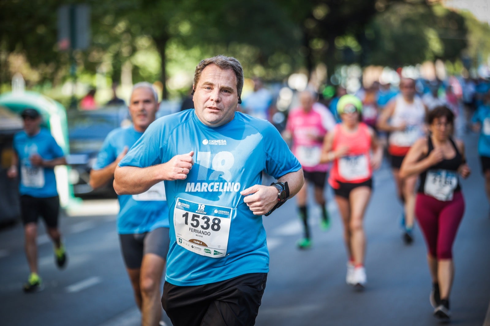
[(333, 162), (328, 183), (334, 189), (344, 227), (349, 258), (345, 280), (361, 290), (366, 284), (363, 218), (371, 197), (372, 170), (381, 165), (383, 149), (373, 129), (360, 122), (362, 102), (359, 98), (343, 95), (337, 112), (342, 122), (325, 137), (321, 162)]

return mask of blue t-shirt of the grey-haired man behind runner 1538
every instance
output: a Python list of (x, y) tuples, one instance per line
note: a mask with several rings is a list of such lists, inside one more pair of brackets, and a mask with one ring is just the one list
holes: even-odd
[[(93, 166), (100, 170), (113, 163), (124, 147), (131, 146), (143, 135), (133, 126), (114, 129), (107, 135)], [(165, 201), (163, 183), (150, 188), (140, 195), (120, 195), (118, 214), (118, 233), (145, 233), (156, 228), (169, 227), (169, 207)]]

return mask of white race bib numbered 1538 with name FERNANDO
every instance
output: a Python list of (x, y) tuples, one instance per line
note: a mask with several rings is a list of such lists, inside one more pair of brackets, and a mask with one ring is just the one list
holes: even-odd
[(177, 198), (173, 226), (177, 244), (201, 256), (226, 256), (233, 209)]

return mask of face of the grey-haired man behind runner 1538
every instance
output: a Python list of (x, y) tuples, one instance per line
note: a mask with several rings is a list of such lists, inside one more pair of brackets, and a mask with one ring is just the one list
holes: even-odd
[(134, 90), (129, 100), (129, 114), (133, 120), (134, 129), (139, 132), (147, 130), (150, 123), (155, 120), (157, 111), (158, 103), (150, 89), (142, 87)]

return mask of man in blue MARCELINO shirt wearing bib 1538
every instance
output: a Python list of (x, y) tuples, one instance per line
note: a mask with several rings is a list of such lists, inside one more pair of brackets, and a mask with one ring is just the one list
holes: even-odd
[[(115, 171), (120, 194), (165, 181), (171, 224), (162, 304), (174, 326), (255, 323), (269, 271), (261, 215), (304, 182), (270, 122), (236, 112), (243, 78), (235, 58), (202, 60), (195, 109), (152, 123)], [(263, 170), (278, 183), (263, 186)]]

